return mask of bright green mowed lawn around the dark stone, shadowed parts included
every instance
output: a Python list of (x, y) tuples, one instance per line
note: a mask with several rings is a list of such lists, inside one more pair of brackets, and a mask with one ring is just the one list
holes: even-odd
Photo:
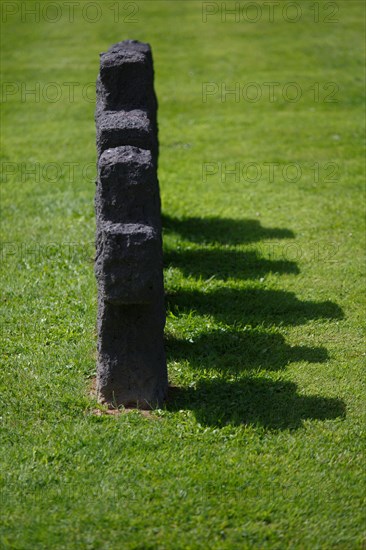
[[(362, 548), (363, 2), (333, 23), (77, 4), (2, 23), (2, 547)], [(92, 83), (125, 38), (151, 43), (159, 99), (174, 388), (148, 418), (90, 392)]]

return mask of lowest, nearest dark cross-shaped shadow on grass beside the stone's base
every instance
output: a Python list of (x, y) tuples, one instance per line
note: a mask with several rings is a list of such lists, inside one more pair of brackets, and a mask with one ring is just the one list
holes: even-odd
[(341, 399), (299, 395), (292, 382), (240, 378), (200, 381), (196, 388), (172, 388), (169, 410), (189, 408), (202, 425), (253, 425), (266, 429), (298, 429), (304, 420), (345, 417)]

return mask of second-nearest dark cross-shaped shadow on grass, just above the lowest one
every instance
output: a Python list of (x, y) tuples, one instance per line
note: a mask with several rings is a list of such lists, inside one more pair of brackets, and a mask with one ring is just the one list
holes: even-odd
[(197, 372), (214, 369), (223, 376), (257, 369), (276, 371), (294, 361), (323, 363), (324, 347), (289, 346), (281, 334), (263, 331), (215, 330), (196, 338), (168, 338), (168, 361), (186, 360)]

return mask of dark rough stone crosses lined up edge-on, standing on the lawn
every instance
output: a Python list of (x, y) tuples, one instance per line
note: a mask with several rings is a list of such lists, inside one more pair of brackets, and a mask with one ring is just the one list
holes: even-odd
[(97, 393), (102, 403), (150, 408), (168, 387), (157, 101), (148, 44), (119, 42), (100, 56)]

